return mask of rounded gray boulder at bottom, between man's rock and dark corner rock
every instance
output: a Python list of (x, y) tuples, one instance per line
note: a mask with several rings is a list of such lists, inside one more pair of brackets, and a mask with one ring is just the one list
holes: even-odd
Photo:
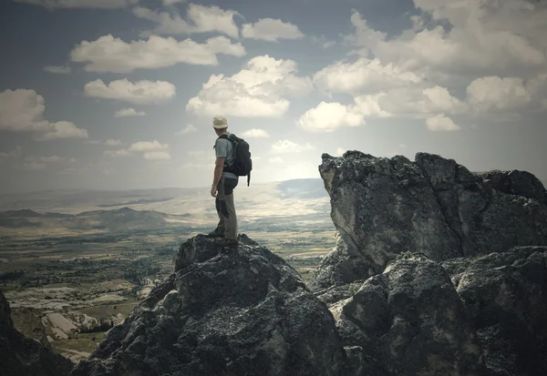
[(356, 285), (335, 288), (350, 296), (334, 303), (332, 289), (318, 295), (334, 314), (353, 367), (348, 375), (485, 374), (476, 332), (439, 263), (398, 256)]

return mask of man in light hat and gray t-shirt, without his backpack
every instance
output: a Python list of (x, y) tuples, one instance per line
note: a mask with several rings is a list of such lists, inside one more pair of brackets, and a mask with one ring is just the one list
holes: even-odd
[(237, 187), (239, 178), (232, 172), (225, 171), (225, 168), (232, 167), (233, 164), (233, 146), (232, 142), (226, 138), (220, 138), (222, 135), (230, 135), (228, 132), (228, 121), (226, 117), (214, 117), (212, 127), (219, 137), (217, 138), (214, 149), (216, 161), (212, 178), (211, 196), (215, 199), (215, 207), (219, 216), (217, 228), (209, 233), (210, 237), (221, 238), (224, 245), (237, 245), (237, 217), (233, 205), (233, 188)]

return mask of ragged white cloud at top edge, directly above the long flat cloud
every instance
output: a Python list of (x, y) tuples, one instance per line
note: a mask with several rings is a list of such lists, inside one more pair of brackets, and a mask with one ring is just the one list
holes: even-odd
[(141, 36), (190, 35), (213, 32), (222, 33), (233, 38), (239, 36), (238, 26), (233, 21), (233, 16), (239, 15), (239, 13), (232, 10), (222, 10), (216, 5), (188, 5), (187, 20), (182, 19), (176, 11), (158, 13), (143, 7), (133, 8), (133, 15), (157, 24), (154, 30), (141, 33)]

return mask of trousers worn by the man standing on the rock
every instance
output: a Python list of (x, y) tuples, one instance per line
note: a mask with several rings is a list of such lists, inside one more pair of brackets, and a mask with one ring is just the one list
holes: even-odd
[(237, 239), (237, 216), (233, 205), (233, 188), (237, 187), (235, 178), (222, 177), (217, 185), (217, 197), (215, 207), (219, 215), (217, 229), (224, 233), (226, 239)]

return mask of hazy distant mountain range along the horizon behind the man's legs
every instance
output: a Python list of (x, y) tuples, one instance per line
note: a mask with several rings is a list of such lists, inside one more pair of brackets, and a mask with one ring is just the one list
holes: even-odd
[[(323, 180), (294, 179), (238, 187), (241, 224), (311, 221), (332, 225)], [(108, 209), (107, 209), (108, 208)], [(218, 217), (209, 188), (67, 190), (0, 196), (0, 235), (201, 227)]]

